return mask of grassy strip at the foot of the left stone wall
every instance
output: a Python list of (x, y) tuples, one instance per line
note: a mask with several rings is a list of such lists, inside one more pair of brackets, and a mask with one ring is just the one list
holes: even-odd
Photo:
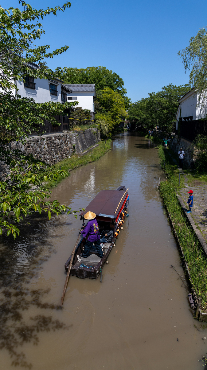
[[(66, 158), (63, 161), (58, 162), (55, 167), (59, 168), (61, 166), (61, 169), (64, 169), (67, 172), (70, 172), (72, 169), (78, 168), (80, 166), (83, 166), (87, 163), (95, 162), (97, 159), (101, 158), (102, 155), (104, 155), (106, 152), (110, 150), (111, 146), (111, 139), (106, 140), (106, 144), (104, 140), (99, 141), (99, 146), (94, 148), (92, 151), (92, 156), (91, 156), (91, 151), (88, 154), (85, 154), (83, 156), (80, 156), (80, 154), (74, 154), (71, 156), (71, 158)], [(105, 148), (104, 148), (105, 144)], [(80, 158), (79, 158), (80, 157)], [(59, 182), (63, 180), (62, 176), (57, 177), (56, 180), (49, 181), (47, 183), (47, 186), (49, 188), (55, 187)]]

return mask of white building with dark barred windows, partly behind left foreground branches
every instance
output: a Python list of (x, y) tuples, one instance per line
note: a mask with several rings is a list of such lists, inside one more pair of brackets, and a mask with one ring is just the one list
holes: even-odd
[[(30, 63), (30, 67), (39, 68), (38, 64)], [(57, 78), (53, 80), (41, 80), (40, 78), (26, 77), (25, 83), (23, 81), (17, 81), (18, 94), (21, 97), (33, 98), (35, 103), (46, 103), (49, 101), (65, 102), (66, 94), (71, 92), (67, 88), (63, 81)]]

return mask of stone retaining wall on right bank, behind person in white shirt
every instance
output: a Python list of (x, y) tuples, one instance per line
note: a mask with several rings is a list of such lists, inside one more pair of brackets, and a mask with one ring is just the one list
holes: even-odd
[(173, 137), (169, 144), (169, 148), (172, 149), (172, 151), (176, 154), (178, 154), (180, 148), (183, 148), (183, 151), (185, 152), (183, 166), (186, 168), (193, 168), (194, 162), (200, 153), (200, 151), (194, 147), (192, 142), (188, 141), (187, 139), (180, 137), (178, 138), (177, 135)]

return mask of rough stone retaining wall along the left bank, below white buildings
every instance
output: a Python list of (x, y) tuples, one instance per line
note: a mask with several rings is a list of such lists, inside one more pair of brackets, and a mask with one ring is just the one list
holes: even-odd
[[(20, 141), (12, 141), (9, 146), (12, 149), (20, 150), (23, 154), (32, 154), (35, 158), (46, 163), (55, 164), (75, 152), (85, 151), (100, 140), (100, 132), (97, 128), (88, 128), (84, 132), (69, 131), (29, 137), (24, 145)], [(0, 161), (0, 180), (5, 181), (9, 173), (9, 166)]]

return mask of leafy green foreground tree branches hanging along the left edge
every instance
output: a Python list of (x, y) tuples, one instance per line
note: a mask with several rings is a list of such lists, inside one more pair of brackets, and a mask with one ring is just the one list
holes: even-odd
[[(17, 224), (32, 213), (47, 212), (50, 219), (52, 212), (58, 215), (62, 211), (72, 211), (58, 201), (48, 201), (51, 192), (44, 186), (48, 179), (67, 176), (67, 173), (37, 161), (32, 155), (18, 152), (11, 147), (10, 141), (15, 139), (24, 145), (31, 132), (39, 134), (45, 120), (58, 124), (53, 116), (77, 105), (76, 102), (36, 104), (32, 98), (18, 95), (15, 81), (25, 81), (26, 75), (47, 79), (76, 73), (71, 68), (57, 68), (53, 72), (46, 67), (45, 59), (63, 53), (68, 46), (49, 53), (49, 45), (36, 47), (34, 44), (44, 33), (39, 19), (50, 13), (56, 15), (58, 10), (64, 11), (71, 6), (70, 2), (46, 10), (36, 10), (23, 0), (19, 2), (23, 11), (0, 7), (0, 160), (10, 164), (11, 171), (6, 181), (0, 182), (0, 234), (3, 229), (14, 238), (19, 233)], [(41, 68), (36, 68), (34, 63), (41, 63)]]

